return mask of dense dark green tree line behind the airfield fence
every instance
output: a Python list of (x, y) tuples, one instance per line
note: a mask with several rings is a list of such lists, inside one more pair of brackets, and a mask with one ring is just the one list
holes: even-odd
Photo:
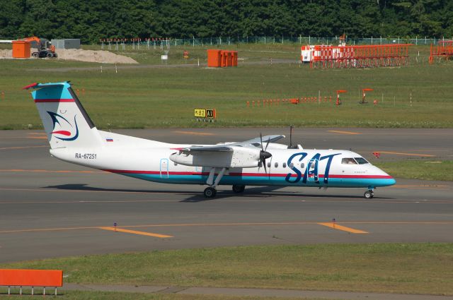
[(453, 36), (452, 0), (0, 0), (0, 39)]

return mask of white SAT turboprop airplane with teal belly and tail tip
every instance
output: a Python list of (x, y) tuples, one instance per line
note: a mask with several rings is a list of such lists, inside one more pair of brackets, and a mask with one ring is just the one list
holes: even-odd
[[(59, 160), (166, 184), (217, 186), (235, 193), (246, 186), (374, 188), (395, 184), (389, 174), (348, 150), (304, 149), (275, 143), (285, 136), (260, 136), (241, 143), (179, 145), (101, 131), (82, 107), (69, 82), (33, 83), (31, 93)], [(265, 146), (263, 147), (263, 145)]]

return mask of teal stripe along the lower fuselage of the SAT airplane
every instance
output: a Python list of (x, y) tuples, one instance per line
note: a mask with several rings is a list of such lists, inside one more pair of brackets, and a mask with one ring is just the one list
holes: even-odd
[[(165, 184), (206, 184), (207, 175), (173, 175), (169, 174), (130, 174), (119, 173), (125, 176), (143, 179), (147, 181), (161, 182)], [(309, 180), (306, 183), (299, 181), (297, 183), (287, 182), (285, 177), (277, 176), (229, 176), (222, 177), (219, 185), (243, 185), (243, 186), (315, 186), (315, 187), (348, 187), (348, 188), (362, 188), (368, 186), (392, 186), (395, 184), (395, 179), (368, 179), (368, 178), (329, 178), (328, 184), (324, 184), (321, 179), (319, 183)]]

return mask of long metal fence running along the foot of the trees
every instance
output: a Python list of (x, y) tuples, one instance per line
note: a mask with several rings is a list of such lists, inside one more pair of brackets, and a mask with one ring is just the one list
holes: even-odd
[[(453, 39), (453, 37), (452, 37)], [(118, 42), (116, 42), (118, 40)], [(135, 49), (140, 47), (153, 47), (169, 48), (172, 46), (221, 46), (231, 44), (326, 44), (336, 45), (340, 43), (340, 37), (302, 37), (302, 36), (263, 36), (263, 37), (193, 37), (188, 39), (177, 38), (149, 38), (146, 40), (138, 39), (105, 39), (101, 42), (102, 48), (117, 48), (117, 44), (124, 45), (132, 44)], [(437, 39), (435, 37), (361, 37), (350, 38), (346, 37), (346, 44), (348, 45), (365, 45), (365, 44), (415, 44), (415, 45), (430, 45), (437, 44), (439, 40), (448, 40), (445, 37)], [(115, 47), (116, 46), (116, 47)], [(120, 46), (121, 47), (121, 46)]]

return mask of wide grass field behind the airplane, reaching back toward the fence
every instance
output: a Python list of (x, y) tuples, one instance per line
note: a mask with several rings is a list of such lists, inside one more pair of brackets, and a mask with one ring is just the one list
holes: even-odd
[[(190, 48), (190, 47), (188, 47)], [(128, 51), (144, 68), (100, 71), (100, 64), (59, 60), (0, 60), (0, 128), (42, 128), (28, 92), (33, 82), (71, 80), (98, 128), (200, 126), (453, 126), (453, 62), (429, 66), (426, 52), (411, 57), (410, 66), (374, 69), (310, 69), (300, 64), (270, 64), (299, 57), (297, 45), (239, 45), (237, 68), (151, 68), (161, 64), (160, 50)], [(205, 62), (205, 49), (189, 49), (190, 60)], [(418, 50), (417, 50), (418, 51)], [(412, 53), (418, 53), (413, 51)], [(170, 52), (171, 64), (184, 64), (183, 48)], [(263, 61), (263, 64), (246, 64)], [(418, 62), (417, 62), (418, 61)], [(93, 66), (93, 70), (46, 71)], [(147, 68), (146, 66), (150, 66)], [(358, 104), (361, 88), (374, 88), (368, 104)], [(336, 90), (348, 90), (343, 104), (333, 103)], [(246, 102), (292, 97), (332, 97), (333, 102), (246, 107)], [(412, 100), (411, 100), (412, 96)], [(324, 99), (324, 98), (323, 98)], [(374, 106), (371, 102), (378, 100)], [(193, 109), (215, 108), (215, 124), (195, 122)]]

